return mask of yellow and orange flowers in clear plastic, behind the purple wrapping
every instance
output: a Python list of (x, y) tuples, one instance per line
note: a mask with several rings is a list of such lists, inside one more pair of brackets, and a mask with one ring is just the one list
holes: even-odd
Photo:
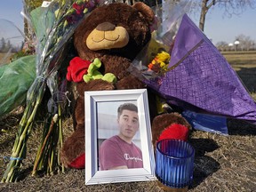
[(132, 72), (136, 68), (140, 79), (156, 90), (161, 86), (165, 74), (175, 68), (169, 65), (175, 36), (190, 5), (191, 2), (186, 0), (180, 3), (164, 1), (163, 4), (152, 7), (156, 12), (156, 21), (151, 28), (151, 40), (132, 61), (129, 70)]

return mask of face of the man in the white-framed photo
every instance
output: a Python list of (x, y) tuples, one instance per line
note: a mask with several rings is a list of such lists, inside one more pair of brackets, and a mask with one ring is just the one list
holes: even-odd
[(120, 134), (127, 139), (132, 139), (139, 129), (138, 113), (131, 110), (124, 109), (117, 123), (120, 128)]

